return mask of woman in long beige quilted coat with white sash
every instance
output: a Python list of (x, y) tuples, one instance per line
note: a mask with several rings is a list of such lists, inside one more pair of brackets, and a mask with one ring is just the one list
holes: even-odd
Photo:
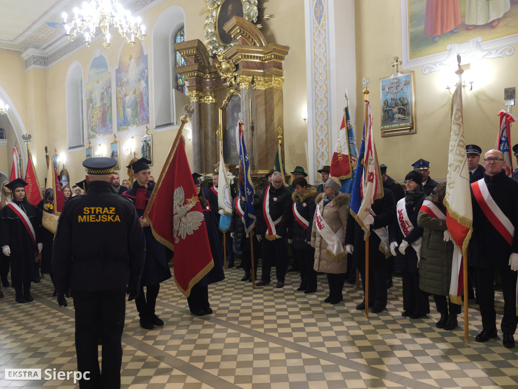
[(342, 289), (347, 271), (344, 244), (350, 196), (340, 192), (340, 180), (329, 177), (324, 192), (315, 199), (316, 212), (311, 231), (311, 246), (315, 248), (314, 270), (327, 273), (329, 296), (324, 302), (337, 304), (343, 300)]

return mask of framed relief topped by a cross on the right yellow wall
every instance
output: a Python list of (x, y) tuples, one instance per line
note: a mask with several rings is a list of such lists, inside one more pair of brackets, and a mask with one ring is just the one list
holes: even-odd
[(389, 77), (380, 78), (380, 97), (381, 137), (415, 134), (414, 72), (396, 71)]

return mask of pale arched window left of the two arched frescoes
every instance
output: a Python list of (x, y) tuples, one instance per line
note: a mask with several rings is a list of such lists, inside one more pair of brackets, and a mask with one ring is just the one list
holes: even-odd
[(68, 148), (83, 147), (83, 69), (79, 62), (74, 62), (68, 68), (65, 90)]

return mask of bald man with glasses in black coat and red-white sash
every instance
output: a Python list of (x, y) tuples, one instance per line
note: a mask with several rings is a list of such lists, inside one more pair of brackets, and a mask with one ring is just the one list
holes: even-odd
[(502, 343), (514, 347), (516, 317), (516, 270), (518, 270), (518, 183), (503, 171), (503, 154), (489, 150), (484, 156), (486, 172), (471, 184), (473, 234), (469, 242), (471, 265), (477, 274), (477, 299), (482, 332), (475, 338), (486, 342), (497, 337), (495, 270), (500, 272), (503, 294)]

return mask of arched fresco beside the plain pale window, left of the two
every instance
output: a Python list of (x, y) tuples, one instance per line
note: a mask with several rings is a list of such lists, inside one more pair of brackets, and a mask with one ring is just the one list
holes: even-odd
[(112, 133), (111, 72), (103, 55), (98, 55), (90, 64), (85, 92), (88, 139)]

